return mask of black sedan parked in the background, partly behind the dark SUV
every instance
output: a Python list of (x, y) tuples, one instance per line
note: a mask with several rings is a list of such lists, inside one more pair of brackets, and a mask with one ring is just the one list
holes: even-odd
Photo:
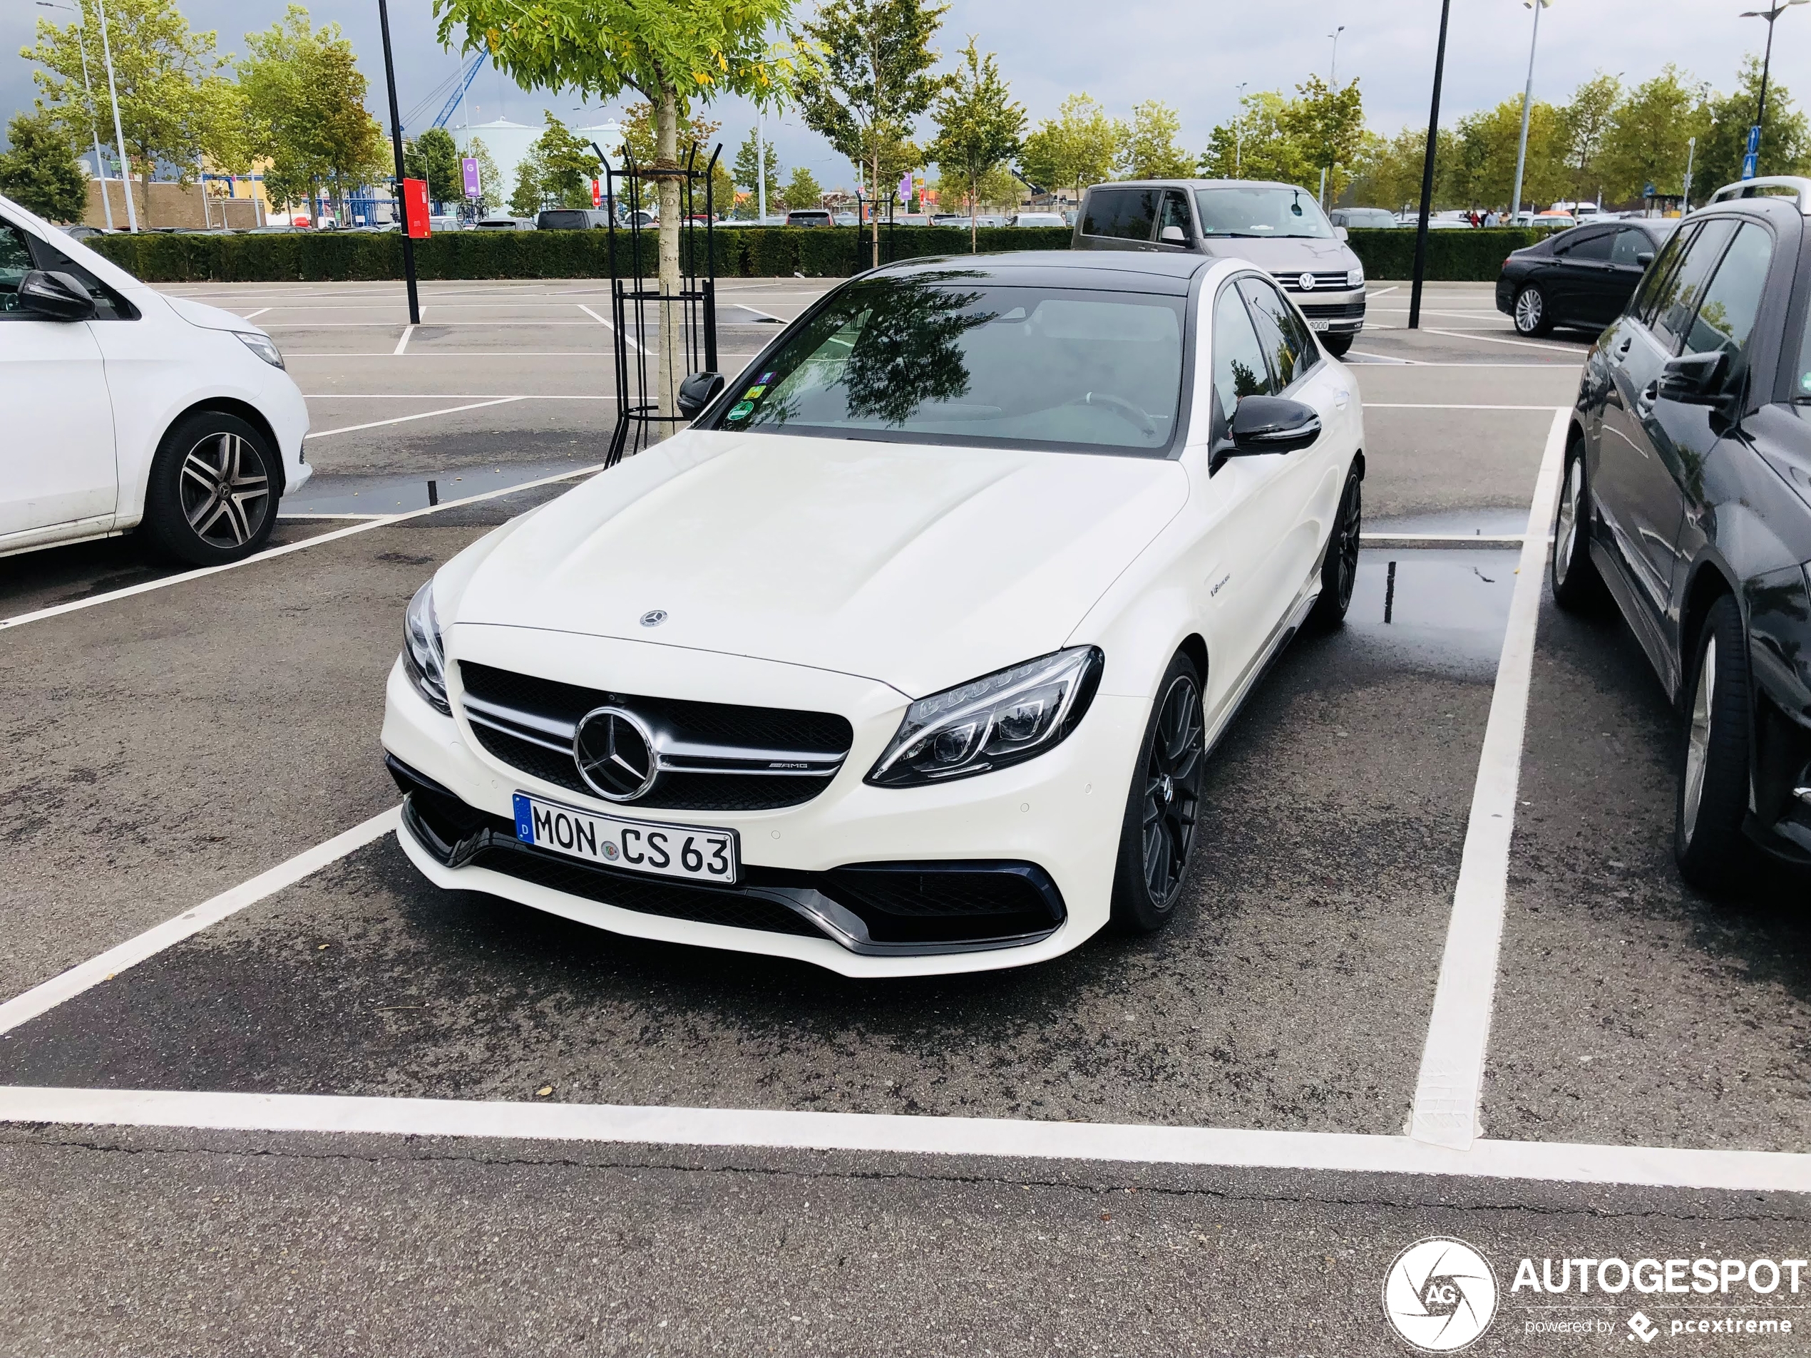
[(1615, 320), (1677, 221), (1637, 217), (1557, 232), (1503, 261), (1496, 310), (1523, 335)]

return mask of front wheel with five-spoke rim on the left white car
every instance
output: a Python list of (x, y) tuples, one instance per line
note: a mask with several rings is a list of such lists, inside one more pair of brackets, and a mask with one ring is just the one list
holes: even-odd
[(277, 521), (277, 453), (235, 415), (194, 411), (170, 426), (150, 464), (143, 532), (188, 565), (239, 561)]

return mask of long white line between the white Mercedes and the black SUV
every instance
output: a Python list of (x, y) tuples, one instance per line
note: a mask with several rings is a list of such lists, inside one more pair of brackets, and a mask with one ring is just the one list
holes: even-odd
[(1541, 471), (1534, 482), (1534, 502), (1528, 505), (1528, 532), (1521, 543), (1521, 565), (1516, 567), (1509, 630), (1498, 659), (1483, 751), (1478, 755), (1460, 880), (1452, 891), (1452, 916), (1409, 1115), (1413, 1139), (1456, 1150), (1469, 1148), (1478, 1137), (1478, 1101), (1490, 1047), (1496, 960), (1509, 896), (1509, 846), (1516, 829), (1521, 737), (1528, 717), (1534, 634), (1547, 574), (1547, 527), (1559, 500), (1570, 415), (1565, 406), (1554, 409)]

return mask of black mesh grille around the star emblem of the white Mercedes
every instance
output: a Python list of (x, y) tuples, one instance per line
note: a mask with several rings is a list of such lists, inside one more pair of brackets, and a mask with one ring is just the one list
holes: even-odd
[[(831, 712), (748, 708), (733, 703), (688, 703), (668, 697), (637, 697), (601, 688), (538, 679), (473, 661), (460, 663), (465, 692), (516, 712), (576, 722), (592, 708), (619, 706), (681, 741), (750, 750), (795, 750), (815, 755), (846, 755), (855, 742), (848, 719)], [(587, 797), (596, 793), (578, 775), (563, 750), (523, 741), (473, 722), (478, 742), (493, 755), (536, 779)], [(663, 773), (634, 806), (663, 811), (771, 811), (810, 802), (829, 779), (761, 773)]]

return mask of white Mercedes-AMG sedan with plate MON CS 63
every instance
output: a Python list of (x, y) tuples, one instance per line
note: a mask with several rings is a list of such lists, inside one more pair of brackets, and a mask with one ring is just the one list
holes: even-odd
[(415, 865), (846, 976), (1163, 927), (1215, 737), (1358, 561), (1355, 384), (1277, 286), (895, 264), (683, 409), (409, 605)]

